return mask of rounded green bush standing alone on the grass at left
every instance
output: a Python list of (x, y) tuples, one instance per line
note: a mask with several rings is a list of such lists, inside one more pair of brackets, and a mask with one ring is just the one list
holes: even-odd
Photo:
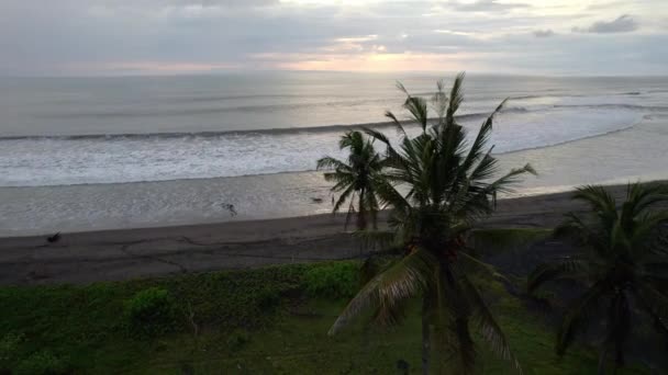
[(138, 337), (155, 337), (174, 331), (177, 314), (169, 292), (158, 287), (141, 291), (125, 302), (130, 332)]

